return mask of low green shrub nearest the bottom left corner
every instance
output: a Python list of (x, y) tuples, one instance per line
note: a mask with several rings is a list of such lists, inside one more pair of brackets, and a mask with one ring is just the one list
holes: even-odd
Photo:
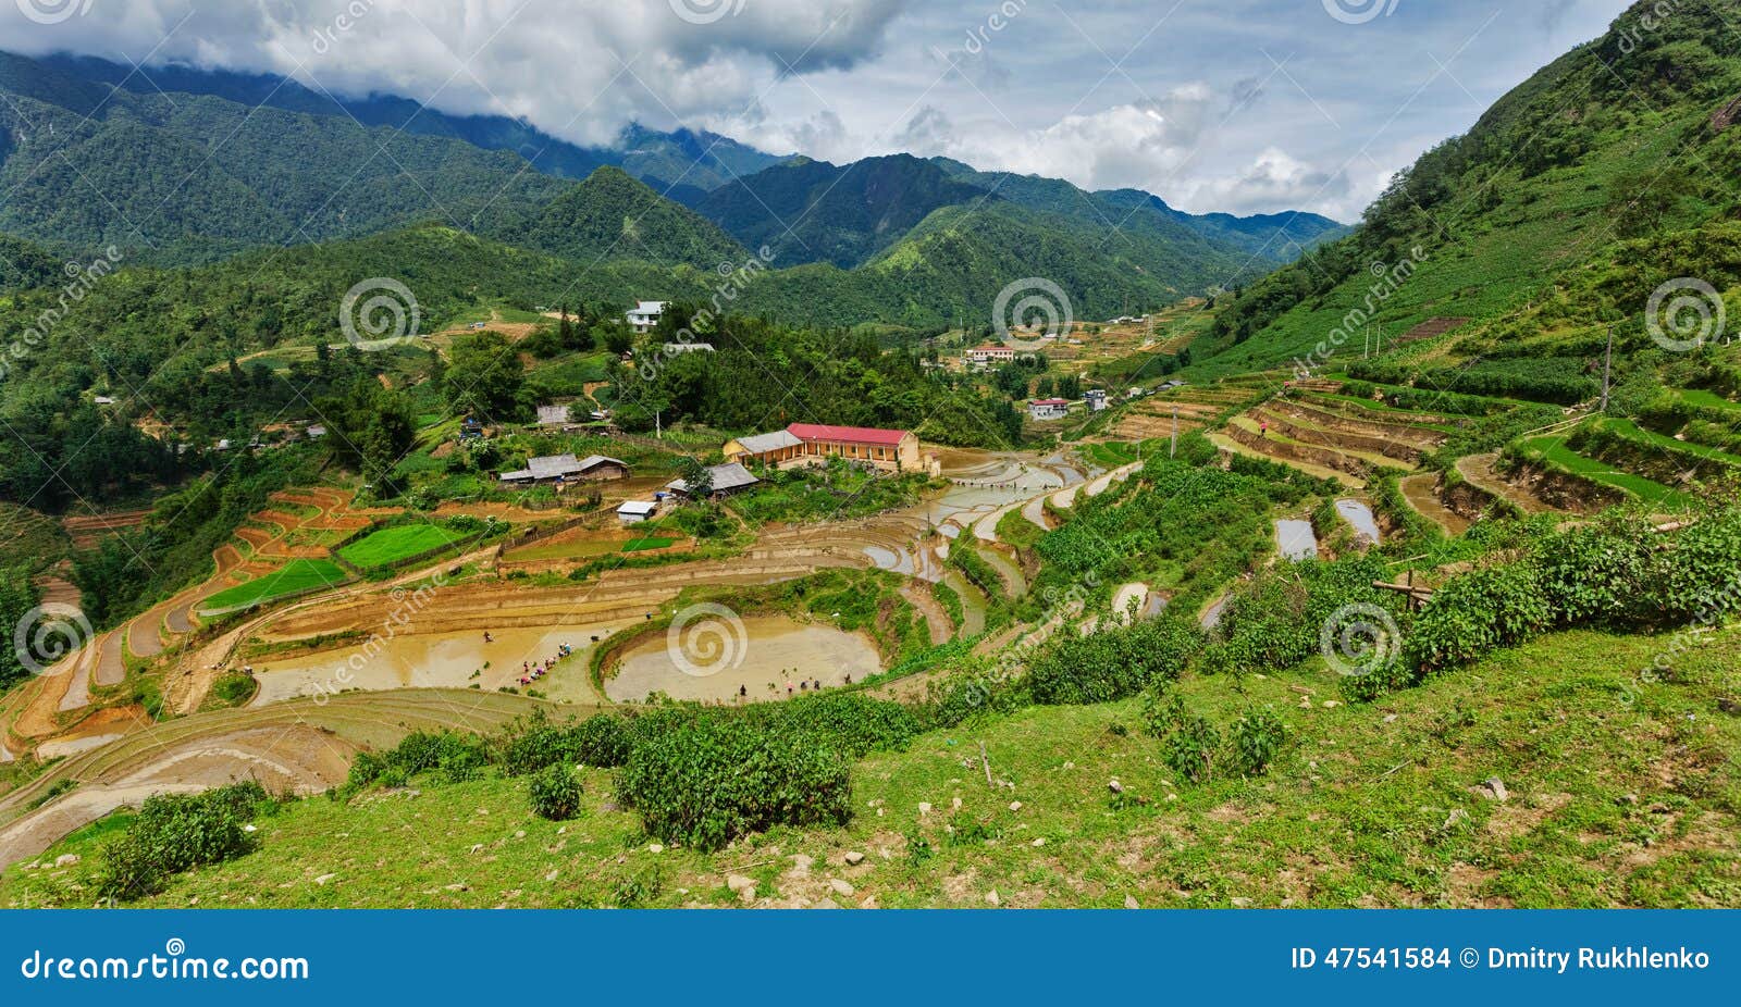
[(270, 800), (258, 783), (239, 783), (197, 795), (158, 795), (120, 838), (103, 847), (97, 896), (131, 901), (157, 894), (171, 877), (202, 864), (235, 859), (254, 849), (242, 828)]

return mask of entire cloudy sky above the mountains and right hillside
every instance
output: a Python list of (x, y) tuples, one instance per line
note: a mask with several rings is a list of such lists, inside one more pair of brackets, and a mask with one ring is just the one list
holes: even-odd
[(1628, 0), (0, 0), (0, 47), (1353, 221)]

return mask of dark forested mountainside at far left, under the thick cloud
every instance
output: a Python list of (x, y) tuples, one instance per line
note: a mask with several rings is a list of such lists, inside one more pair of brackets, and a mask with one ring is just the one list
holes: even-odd
[(96, 92), (106, 89), (0, 54), (0, 132), (14, 139), (0, 151), (0, 230), (178, 264), (413, 221), (487, 226), (564, 188), (512, 153), (348, 117)]

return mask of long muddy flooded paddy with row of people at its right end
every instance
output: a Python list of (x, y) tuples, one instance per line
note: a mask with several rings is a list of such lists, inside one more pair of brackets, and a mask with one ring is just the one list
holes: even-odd
[[(592, 637), (608, 640), (608, 633), (632, 624), (615, 621), (599, 626), (501, 630), (491, 633), (493, 642), (489, 644), (484, 642), (481, 631), (474, 630), (427, 633), (385, 640), (373, 647), (373, 656), (371, 649), (366, 647), (345, 647), (284, 661), (266, 661), (254, 666), (259, 694), (251, 706), (348, 689), (385, 692), (388, 689), (467, 689), (479, 685), (484, 692), (494, 692), (503, 685), (519, 687), (521, 663), (555, 657), (562, 644), (573, 647), (575, 654), (561, 661), (533, 689), (552, 699), (585, 703), (595, 699), (587, 685)], [(474, 678), (474, 671), (481, 671), (481, 675)]]

